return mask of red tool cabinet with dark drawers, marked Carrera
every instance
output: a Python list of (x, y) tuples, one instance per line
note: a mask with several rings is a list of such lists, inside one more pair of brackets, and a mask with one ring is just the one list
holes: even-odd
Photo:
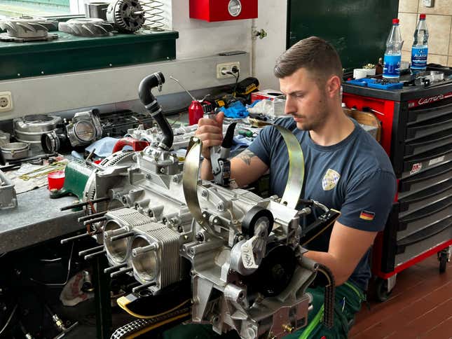
[[(374, 244), (376, 292), (385, 300), (398, 272), (439, 254), (440, 271), (452, 244), (452, 70), (430, 86), (377, 90), (343, 84), (348, 108), (375, 113), (398, 190), (385, 230)], [(371, 194), (371, 193), (370, 193)]]

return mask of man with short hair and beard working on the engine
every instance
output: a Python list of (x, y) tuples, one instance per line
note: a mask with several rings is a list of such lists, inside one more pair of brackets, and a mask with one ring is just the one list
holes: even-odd
[[(305, 158), (301, 198), (341, 211), (332, 230), (308, 244), (305, 255), (326, 265), (336, 282), (334, 328), (322, 326), (323, 289), (309, 289), (313, 311), (308, 326), (290, 338), (345, 338), (348, 321), (359, 310), (371, 276), (369, 248), (383, 230), (395, 196), (396, 180), (383, 148), (341, 107), (342, 65), (336, 50), (315, 36), (296, 43), (281, 55), (274, 69), (286, 95), (278, 124), (291, 130)], [(201, 177), (212, 179), (208, 148), (221, 144), (223, 115), (199, 121), (203, 141)], [(270, 194), (282, 196), (288, 175), (285, 142), (275, 127), (231, 160), (231, 177), (245, 186), (270, 172)], [(316, 212), (316, 211), (314, 211)], [(312, 221), (312, 220), (311, 220)], [(309, 223), (306, 219), (301, 221)]]

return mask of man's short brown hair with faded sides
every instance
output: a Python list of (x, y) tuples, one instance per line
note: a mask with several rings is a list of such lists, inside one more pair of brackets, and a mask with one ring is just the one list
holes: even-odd
[(331, 44), (317, 36), (300, 40), (286, 50), (276, 60), (273, 72), (277, 78), (285, 78), (301, 68), (310, 71), (319, 86), (334, 75), (342, 79), (341, 58)]

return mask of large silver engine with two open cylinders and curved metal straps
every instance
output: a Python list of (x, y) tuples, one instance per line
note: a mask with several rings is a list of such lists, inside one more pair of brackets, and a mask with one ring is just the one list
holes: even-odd
[[(288, 328), (306, 326), (312, 301), (306, 288), (318, 265), (303, 256), (306, 249), (299, 245), (299, 219), (312, 211), (295, 208), (303, 176), (293, 182), (289, 178), (283, 199), (261, 198), (233, 188), (232, 181), (231, 186), (224, 180), (224, 186), (200, 181), (202, 143), (196, 137), (191, 138), (182, 171), (172, 148), (173, 130), (151, 92), (164, 82), (163, 74), (156, 73), (139, 84), (139, 98), (163, 138), (143, 151), (106, 158), (85, 180), (83, 202), (64, 207), (85, 207), (81, 221), (100, 244), (81, 255), (106, 255), (111, 267), (105, 272), (139, 282), (131, 294), (118, 299), (135, 317), (146, 317), (138, 308), (145, 314), (170, 314), (177, 307), (163, 303), (167, 310), (156, 310), (162, 303), (153, 298), (172, 286), (191, 284), (180, 305), (193, 300), (191, 322), (212, 324), (217, 333), (235, 329), (242, 338), (281, 338)], [(291, 136), (295, 138), (287, 132), (284, 137), (289, 154), (300, 151)], [(225, 155), (224, 148), (227, 143), (217, 151)], [(289, 158), (289, 173), (300, 174), (294, 159)], [(81, 175), (85, 178), (86, 173)], [(277, 267), (281, 256), (285, 265)], [(270, 271), (274, 279), (260, 286)], [(144, 304), (133, 307), (139, 300)], [(325, 319), (331, 319), (333, 309), (326, 307), (325, 312)]]

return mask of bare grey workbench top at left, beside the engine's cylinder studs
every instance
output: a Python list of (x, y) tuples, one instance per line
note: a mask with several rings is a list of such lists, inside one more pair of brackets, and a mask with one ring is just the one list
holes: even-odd
[(0, 210), (0, 254), (28, 247), (83, 228), (83, 212), (64, 211), (75, 197), (50, 199), (47, 187), (20, 193), (18, 207)]

